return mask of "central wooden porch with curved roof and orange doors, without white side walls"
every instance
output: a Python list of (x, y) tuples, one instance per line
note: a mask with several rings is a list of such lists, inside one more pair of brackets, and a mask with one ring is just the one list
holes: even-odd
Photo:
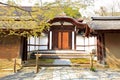
[(87, 24), (66, 16), (56, 17), (50, 23), (49, 50), (76, 50), (76, 32), (85, 30)]

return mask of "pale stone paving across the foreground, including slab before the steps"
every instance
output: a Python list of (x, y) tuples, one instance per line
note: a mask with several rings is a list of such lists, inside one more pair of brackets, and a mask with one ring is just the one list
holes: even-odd
[[(55, 60), (54, 64), (70, 64), (69, 60)], [(35, 67), (25, 67), (17, 73), (10, 74), (0, 80), (120, 80), (120, 70), (97, 69), (80, 67), (42, 67), (35, 73)]]

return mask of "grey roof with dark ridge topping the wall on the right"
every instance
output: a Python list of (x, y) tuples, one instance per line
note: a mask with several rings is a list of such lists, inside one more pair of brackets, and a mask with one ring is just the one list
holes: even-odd
[(92, 17), (92, 21), (88, 24), (93, 30), (118, 30), (120, 17)]

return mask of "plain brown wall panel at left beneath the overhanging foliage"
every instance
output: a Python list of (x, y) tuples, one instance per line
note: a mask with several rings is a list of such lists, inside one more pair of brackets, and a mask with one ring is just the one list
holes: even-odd
[(0, 58), (12, 59), (20, 57), (20, 37), (0, 37)]

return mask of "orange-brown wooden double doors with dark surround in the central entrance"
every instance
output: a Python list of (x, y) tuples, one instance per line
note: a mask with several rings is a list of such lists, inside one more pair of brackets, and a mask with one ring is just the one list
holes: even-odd
[(72, 32), (57, 30), (52, 33), (53, 50), (70, 50), (72, 49)]

